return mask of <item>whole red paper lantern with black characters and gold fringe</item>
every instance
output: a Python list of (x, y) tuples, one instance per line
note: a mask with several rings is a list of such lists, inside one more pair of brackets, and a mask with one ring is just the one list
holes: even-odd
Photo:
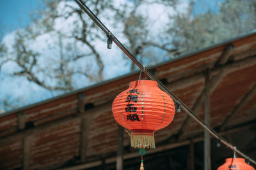
[(132, 147), (156, 148), (154, 132), (172, 122), (175, 105), (157, 81), (139, 80), (116, 96), (112, 111), (116, 122), (131, 131)]

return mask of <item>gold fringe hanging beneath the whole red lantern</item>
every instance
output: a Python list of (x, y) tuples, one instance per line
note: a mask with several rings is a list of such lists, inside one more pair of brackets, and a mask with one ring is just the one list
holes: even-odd
[(138, 135), (131, 134), (131, 146), (132, 148), (156, 148), (155, 138), (152, 135)]

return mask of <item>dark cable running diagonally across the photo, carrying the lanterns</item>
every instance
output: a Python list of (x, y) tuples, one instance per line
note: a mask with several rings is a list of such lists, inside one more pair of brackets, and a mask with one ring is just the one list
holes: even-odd
[(242, 157), (244, 157), (245, 159), (249, 160), (250, 162), (256, 165), (255, 160), (251, 159), (250, 157), (245, 155), (243, 152), (237, 150), (236, 146), (232, 146), (230, 143), (228, 143), (228, 141), (226, 141), (224, 138), (219, 136), (217, 132), (214, 131), (214, 129), (212, 129), (209, 125), (205, 124), (205, 122), (200, 117), (198, 117), (198, 115), (196, 115), (186, 104), (180, 101), (180, 99), (177, 96), (175, 96), (167, 87), (165, 87), (163, 83), (161, 83), (161, 81), (157, 80), (157, 78), (152, 73), (150, 73), (150, 71), (148, 71), (147, 67), (144, 67), (135, 57), (132, 56), (129, 50), (127, 50), (127, 48), (125, 48), (125, 46), (122, 43), (120, 43), (120, 41), (115, 37), (115, 35), (111, 31), (109, 31), (109, 29), (104, 24), (102, 24), (99, 18), (97, 18), (97, 16), (90, 10), (90, 8), (88, 8), (88, 6), (86, 6), (86, 4), (83, 3), (82, 0), (74, 0), (74, 1), (76, 1), (76, 3), (80, 6), (80, 8), (93, 20), (93, 22), (95, 22), (95, 24), (97, 24), (100, 27), (100, 29), (102, 29), (102, 31), (105, 32), (107, 36), (112, 36), (115, 44), (132, 60), (132, 62), (134, 62), (134, 64), (136, 64), (141, 69), (141, 71), (147, 74), (148, 78), (150, 78), (151, 80), (157, 81), (159, 87), (164, 92), (169, 94), (169, 96), (172, 97), (175, 103), (180, 103), (180, 107), (186, 113), (188, 113), (190, 117), (192, 117), (196, 122), (198, 122), (198, 124), (200, 124), (205, 130), (207, 130), (214, 138), (220, 140), (221, 143), (226, 145), (228, 148), (230, 148), (234, 152), (238, 153), (239, 155), (241, 155)]

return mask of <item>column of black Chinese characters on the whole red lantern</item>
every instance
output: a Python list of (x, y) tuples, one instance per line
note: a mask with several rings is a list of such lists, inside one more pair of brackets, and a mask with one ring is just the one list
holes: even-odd
[[(138, 92), (138, 89), (132, 89), (132, 90), (129, 90), (129, 92), (127, 92), (128, 96), (126, 97), (126, 101), (125, 102), (129, 102), (129, 103), (137, 103), (138, 102), (138, 95), (137, 94), (140, 94), (140, 92)], [(130, 112), (129, 115), (126, 115), (127, 117), (127, 120), (129, 121), (139, 121), (140, 122), (140, 118), (138, 117), (138, 114), (137, 113), (133, 113), (131, 114), (132, 112), (136, 112), (137, 111), (137, 108), (134, 107), (134, 104), (127, 104), (126, 105), (127, 108), (125, 108), (125, 111), (126, 112)]]

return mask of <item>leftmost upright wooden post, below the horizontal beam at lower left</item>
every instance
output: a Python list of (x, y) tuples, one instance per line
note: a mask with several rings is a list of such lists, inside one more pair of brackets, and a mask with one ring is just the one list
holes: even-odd
[(30, 162), (30, 153), (31, 153), (31, 136), (26, 136), (23, 139), (23, 169), (29, 169)]

